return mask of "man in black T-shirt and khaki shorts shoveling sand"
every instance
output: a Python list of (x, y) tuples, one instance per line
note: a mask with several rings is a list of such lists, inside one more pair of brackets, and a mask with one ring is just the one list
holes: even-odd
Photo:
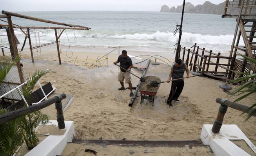
[[(120, 55), (117, 59), (116, 62), (114, 62), (114, 65), (116, 63), (120, 63), (120, 66), (125, 68), (126, 70), (130, 70), (133, 67), (133, 63), (132, 63), (132, 59), (127, 56), (127, 51), (123, 50), (122, 51), (122, 55)], [(126, 72), (125, 70), (123, 70), (122, 68), (120, 68), (120, 73), (118, 74), (118, 81), (121, 84), (121, 88), (118, 88), (118, 90), (125, 90), (124, 86), (123, 86), (123, 80), (125, 79), (125, 83), (129, 84), (129, 88), (130, 88), (130, 97), (133, 96), (133, 84), (131, 81), (131, 75), (129, 72)]]

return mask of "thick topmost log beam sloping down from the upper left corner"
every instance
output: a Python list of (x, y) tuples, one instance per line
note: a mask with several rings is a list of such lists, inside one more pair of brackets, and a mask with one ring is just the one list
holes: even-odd
[(38, 21), (38, 22), (52, 23), (52, 24), (64, 25), (64, 26), (68, 26), (68, 27), (85, 28), (85, 29), (88, 29), (88, 30), (91, 29), (89, 27), (84, 27), (84, 26), (81, 26), (81, 25), (73, 25), (73, 24), (67, 24), (67, 23), (54, 22), (54, 21), (44, 20), (44, 19), (40, 19), (40, 18), (36, 18), (36, 17), (22, 15), (22, 14), (11, 13), (9, 11), (4, 11), (4, 10), (2, 11), (2, 14), (15, 16), (15, 17), (19, 17), (19, 18), (25, 18), (25, 19), (28, 19), (28, 20), (34, 20), (34, 21)]

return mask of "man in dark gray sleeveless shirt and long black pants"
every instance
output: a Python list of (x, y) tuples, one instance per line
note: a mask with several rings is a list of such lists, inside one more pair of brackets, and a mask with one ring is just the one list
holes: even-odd
[[(175, 65), (171, 67), (171, 72), (169, 74), (169, 79), (167, 80), (167, 82), (169, 83), (171, 81), (171, 78), (172, 79), (183, 78), (185, 70), (187, 73), (186, 78), (189, 78), (189, 68), (187, 68), (187, 65), (185, 63), (182, 63), (181, 59), (177, 59), (175, 61)], [(178, 100), (178, 97), (182, 93), (183, 86), (184, 86), (183, 79), (172, 81), (171, 91), (167, 99), (167, 104), (169, 107), (172, 107), (172, 100), (175, 102), (180, 101)]]

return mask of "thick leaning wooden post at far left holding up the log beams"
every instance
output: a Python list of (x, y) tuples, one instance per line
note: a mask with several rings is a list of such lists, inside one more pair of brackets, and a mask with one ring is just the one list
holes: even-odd
[[(18, 48), (17, 48), (17, 45), (16, 45), (16, 40), (15, 40), (15, 33), (14, 33), (14, 30), (13, 30), (13, 22), (11, 20), (11, 16), (9, 16), (7, 18), (8, 20), (8, 25), (9, 25), (9, 36), (8, 36), (8, 40), (9, 40), (9, 44), (10, 44), (10, 50), (13, 51), (11, 52), (11, 54), (14, 54), (14, 56), (12, 56), (13, 60), (16, 59), (17, 57), (19, 57), (19, 53), (18, 53)], [(17, 61), (17, 68), (18, 68), (18, 74), (19, 74), (19, 77), (20, 77), (20, 83), (24, 83), (24, 77), (23, 77), (23, 73), (22, 73), (22, 68), (21, 68), (21, 65), (20, 65), (20, 61)]]

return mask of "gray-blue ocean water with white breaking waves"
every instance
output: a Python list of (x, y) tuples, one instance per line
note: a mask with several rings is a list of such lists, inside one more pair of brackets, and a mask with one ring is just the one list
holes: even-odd
[[(66, 30), (60, 38), (62, 45), (75, 47), (116, 47), (148, 52), (173, 52), (178, 42), (176, 23), (180, 24), (180, 13), (133, 12), (133, 11), (58, 11), (19, 12), (28, 16), (56, 22), (91, 27), (91, 30)], [(4, 24), (4, 22), (0, 23)], [(56, 26), (13, 17), (20, 26)], [(235, 19), (221, 15), (184, 14), (182, 47), (197, 43), (214, 52), (228, 52), (231, 48)], [(59, 27), (59, 26), (58, 26)], [(62, 27), (62, 26), (61, 26)], [(20, 32), (16, 32), (19, 34)], [(5, 32), (0, 32), (5, 34)], [(17, 35), (20, 43), (24, 35)], [(7, 39), (0, 36), (0, 44)], [(40, 32), (41, 44), (55, 41), (54, 31)], [(69, 40), (69, 42), (68, 42)], [(35, 39), (32, 38), (35, 43)]]

